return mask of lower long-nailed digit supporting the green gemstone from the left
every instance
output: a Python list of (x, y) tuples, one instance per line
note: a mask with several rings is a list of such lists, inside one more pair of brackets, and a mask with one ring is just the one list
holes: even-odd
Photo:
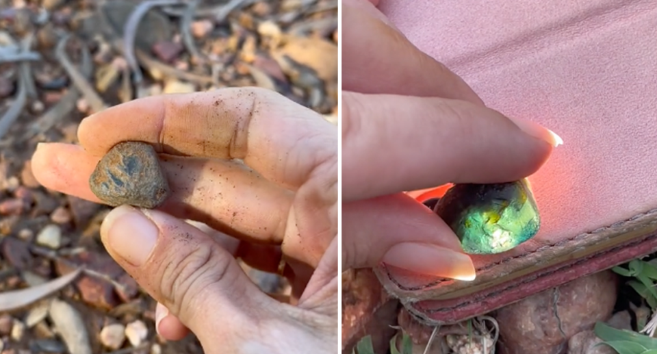
[(342, 236), (343, 270), (383, 263), (435, 277), (476, 276), (454, 231), (403, 193), (343, 204)]

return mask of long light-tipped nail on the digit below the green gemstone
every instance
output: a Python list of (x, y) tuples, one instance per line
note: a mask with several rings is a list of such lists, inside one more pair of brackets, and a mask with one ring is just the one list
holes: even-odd
[(383, 256), (382, 262), (437, 277), (465, 281), (476, 277), (474, 264), (468, 255), (428, 243), (396, 244)]

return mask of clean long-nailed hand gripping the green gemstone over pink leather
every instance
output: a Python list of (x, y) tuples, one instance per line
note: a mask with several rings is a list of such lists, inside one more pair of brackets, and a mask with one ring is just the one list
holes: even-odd
[[(486, 108), (376, 9), (342, 1), (342, 266), (474, 279), (453, 231), (402, 193), (531, 175), (560, 138)], [(367, 53), (367, 55), (363, 55)]]

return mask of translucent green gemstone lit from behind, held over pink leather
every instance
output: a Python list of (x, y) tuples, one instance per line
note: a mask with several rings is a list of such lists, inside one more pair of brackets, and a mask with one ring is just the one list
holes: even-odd
[(541, 218), (526, 179), (503, 184), (455, 184), (434, 207), (459, 236), (463, 251), (513, 249), (539, 231)]

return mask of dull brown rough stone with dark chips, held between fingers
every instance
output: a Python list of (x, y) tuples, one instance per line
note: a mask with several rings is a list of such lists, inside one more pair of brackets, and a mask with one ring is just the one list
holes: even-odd
[(157, 153), (145, 142), (120, 142), (96, 165), (89, 184), (104, 203), (152, 209), (169, 196)]

